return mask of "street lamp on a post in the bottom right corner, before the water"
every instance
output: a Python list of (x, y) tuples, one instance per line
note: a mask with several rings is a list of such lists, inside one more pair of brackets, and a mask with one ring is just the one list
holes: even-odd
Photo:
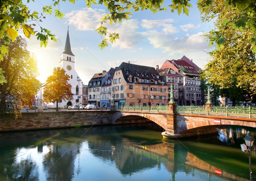
[[(244, 137), (244, 141), (245, 141), (245, 144), (241, 144), (241, 150), (244, 152), (244, 153), (249, 153), (249, 164), (250, 164), (250, 180), (252, 181), (253, 178), (252, 178), (252, 165), (251, 165), (251, 158), (250, 158), (250, 149), (251, 147), (253, 146), (253, 142), (254, 142), (254, 136), (251, 134), (251, 133), (247, 133), (247, 135)], [(248, 147), (248, 149), (247, 149)]]

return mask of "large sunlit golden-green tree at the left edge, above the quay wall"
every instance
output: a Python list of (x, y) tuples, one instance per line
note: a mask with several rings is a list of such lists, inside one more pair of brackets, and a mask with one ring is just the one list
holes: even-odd
[(8, 47), (8, 55), (3, 56), (0, 67), (6, 82), (0, 84), (0, 114), (6, 112), (6, 104), (15, 107), (32, 105), (32, 96), (38, 91), (40, 82), (35, 56), (26, 48), (26, 40), (17, 37), (15, 41), (5, 44), (1, 39), (0, 43)]

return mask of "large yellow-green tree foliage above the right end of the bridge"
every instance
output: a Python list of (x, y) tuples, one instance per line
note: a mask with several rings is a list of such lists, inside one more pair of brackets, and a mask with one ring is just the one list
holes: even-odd
[(213, 3), (209, 11), (204, 12), (203, 20), (216, 18), (215, 29), (205, 36), (218, 44), (209, 52), (212, 60), (207, 63), (202, 76), (221, 88), (235, 86), (255, 91), (256, 58), (251, 40), (254, 33), (247, 25), (243, 29), (230, 24), (236, 17), (244, 15), (242, 11), (227, 8), (224, 0), (214, 0)]

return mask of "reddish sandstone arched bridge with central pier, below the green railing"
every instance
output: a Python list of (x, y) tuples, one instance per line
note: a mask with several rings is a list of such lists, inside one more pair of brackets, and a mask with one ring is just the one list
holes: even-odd
[(171, 139), (217, 133), (222, 125), (256, 127), (256, 119), (252, 118), (176, 113), (175, 107), (175, 104), (169, 103), (166, 113), (119, 110), (113, 113), (112, 122), (118, 124), (119, 120), (128, 123), (129, 120), (148, 119), (163, 127), (164, 138)]

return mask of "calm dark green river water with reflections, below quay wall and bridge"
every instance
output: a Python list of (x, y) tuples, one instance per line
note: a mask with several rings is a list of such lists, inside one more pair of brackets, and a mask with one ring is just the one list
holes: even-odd
[[(248, 153), (240, 144), (248, 130), (256, 135), (256, 128), (227, 127), (163, 140), (152, 125), (0, 133), (0, 180), (247, 180)], [(256, 180), (255, 147), (252, 169)]]

